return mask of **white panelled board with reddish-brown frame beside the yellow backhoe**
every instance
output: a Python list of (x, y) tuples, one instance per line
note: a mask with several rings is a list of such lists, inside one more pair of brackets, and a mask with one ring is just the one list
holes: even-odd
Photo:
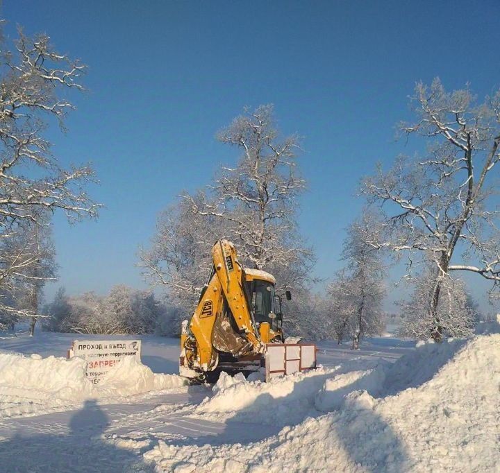
[(268, 343), (262, 355), (265, 380), (316, 368), (316, 345), (313, 343)]

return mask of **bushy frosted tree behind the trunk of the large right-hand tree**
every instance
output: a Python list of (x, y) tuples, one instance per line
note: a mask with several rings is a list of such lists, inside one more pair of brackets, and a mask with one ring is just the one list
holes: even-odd
[[(427, 268), (415, 277), (410, 300), (400, 302), (404, 315), (401, 336), (426, 340), (431, 335), (434, 316), (428, 313), (428, 298), (434, 287), (434, 270)], [(474, 311), (467, 301), (467, 292), (460, 279), (447, 275), (442, 281), (441, 295), (437, 304), (437, 317), (440, 319), (443, 337), (461, 337), (474, 331)]]

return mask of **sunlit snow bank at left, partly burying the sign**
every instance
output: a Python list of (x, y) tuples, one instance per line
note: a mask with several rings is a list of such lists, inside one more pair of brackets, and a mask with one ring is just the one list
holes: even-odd
[(122, 397), (177, 388), (185, 380), (156, 375), (135, 359), (124, 359), (101, 384), (85, 377), (85, 361), (38, 354), (0, 353), (0, 417), (40, 413), (81, 404), (85, 399)]

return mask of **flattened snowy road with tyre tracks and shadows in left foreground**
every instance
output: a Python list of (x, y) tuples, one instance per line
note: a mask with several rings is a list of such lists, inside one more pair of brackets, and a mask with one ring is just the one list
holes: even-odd
[[(0, 421), (2, 472), (149, 471), (141, 454), (158, 439), (188, 443), (260, 440), (276, 433), (190, 418), (183, 407), (198, 404), (206, 388), (131, 399), (130, 404), (88, 400), (76, 410)], [(210, 439), (209, 439), (210, 438)]]

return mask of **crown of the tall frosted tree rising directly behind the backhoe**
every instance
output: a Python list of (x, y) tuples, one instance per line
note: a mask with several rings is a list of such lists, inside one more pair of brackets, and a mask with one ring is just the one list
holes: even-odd
[(280, 138), (272, 105), (245, 110), (217, 137), (235, 146), (240, 160), (222, 168), (208, 195), (201, 193), (200, 199), (185, 194), (192, 211), (226, 223), (240, 259), (253, 268), (287, 267), (299, 258), (310, 259), (295, 220), (296, 198), (305, 188), (296, 171), (297, 137)]

